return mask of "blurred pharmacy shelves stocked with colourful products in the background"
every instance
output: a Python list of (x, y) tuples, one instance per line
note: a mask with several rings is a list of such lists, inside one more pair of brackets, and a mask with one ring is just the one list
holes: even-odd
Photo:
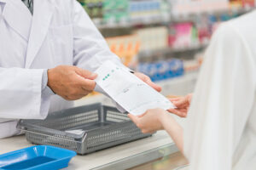
[[(212, 33), (224, 21), (255, 9), (254, 0), (79, 0), (113, 54), (148, 75), (164, 95), (192, 93)], [(252, 3), (253, 2), (253, 3)], [(75, 105), (100, 102), (102, 94)]]

